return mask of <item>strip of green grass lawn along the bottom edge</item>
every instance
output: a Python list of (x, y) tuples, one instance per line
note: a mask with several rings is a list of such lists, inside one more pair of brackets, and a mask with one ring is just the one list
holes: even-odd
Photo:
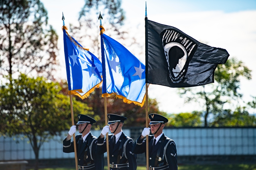
[[(256, 164), (234, 165), (179, 165), (178, 170), (256, 170)], [(33, 170), (33, 169), (30, 169)], [(39, 170), (76, 170), (76, 168), (40, 168)], [(108, 170), (108, 167), (104, 167)], [(137, 170), (146, 170), (146, 166), (138, 166)]]

